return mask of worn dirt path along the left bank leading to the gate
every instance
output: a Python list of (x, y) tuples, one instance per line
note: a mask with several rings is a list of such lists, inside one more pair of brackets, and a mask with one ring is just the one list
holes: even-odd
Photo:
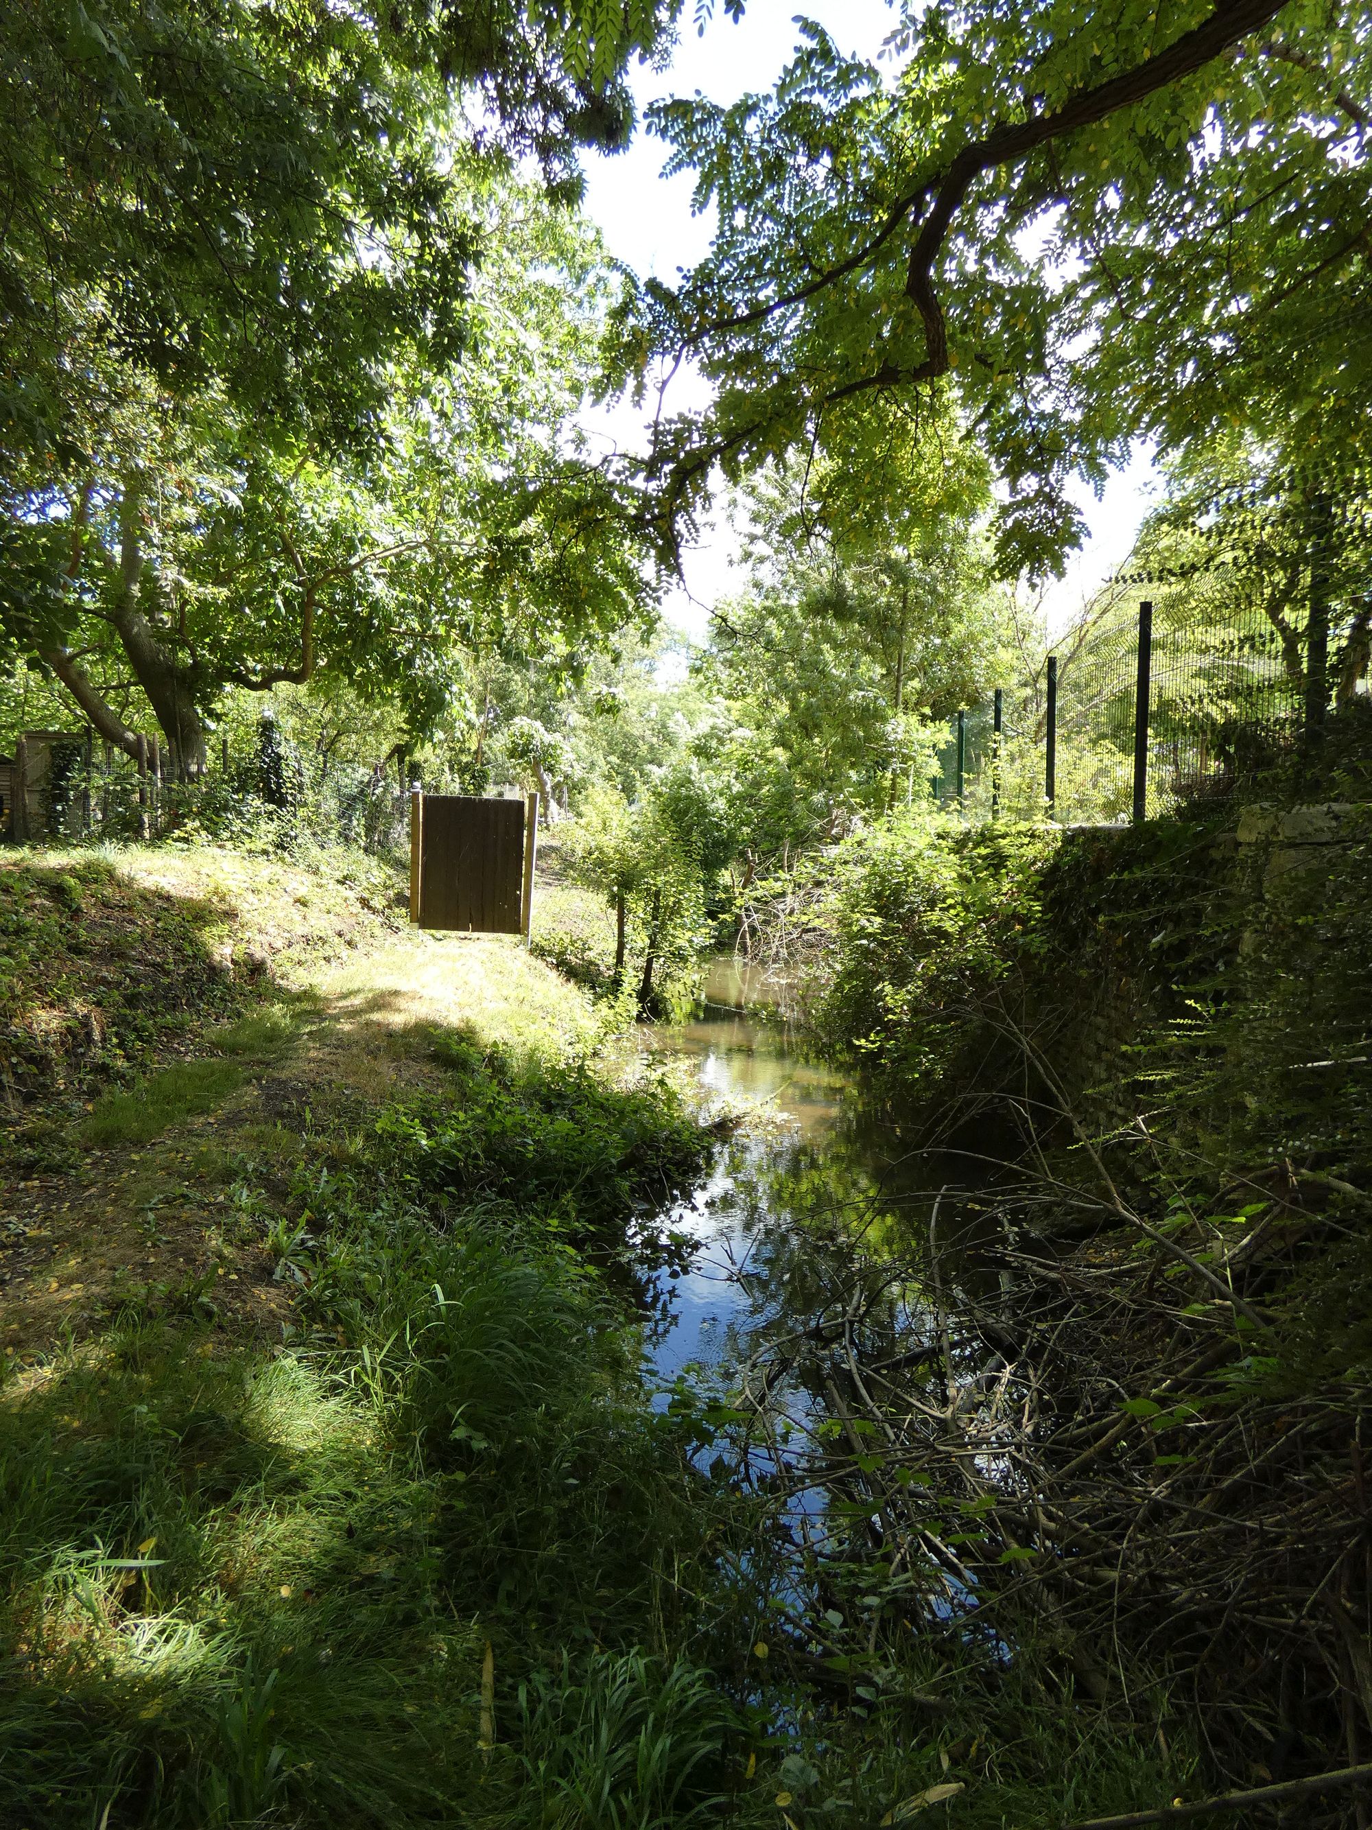
[[(434, 1034), (456, 1027), (560, 1052), (595, 1032), (582, 996), (516, 941), (401, 933), (326, 966), (296, 985), (289, 1021), (212, 1111), (134, 1147), (79, 1147), (68, 1173), (0, 1191), (5, 1354), (46, 1358), (128, 1308), (280, 1340), (293, 1285), (262, 1213), (240, 1204), (249, 1160), (254, 1186), (284, 1195), (307, 1129), (338, 1114), (366, 1122), (434, 1082)], [(214, 1038), (179, 1069), (212, 1060)]]

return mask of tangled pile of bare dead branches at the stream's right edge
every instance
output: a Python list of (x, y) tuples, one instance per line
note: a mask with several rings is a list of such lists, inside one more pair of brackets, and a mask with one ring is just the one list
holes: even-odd
[[(1085, 1190), (1046, 1169), (975, 1202), (944, 1188), (927, 1250), (836, 1255), (809, 1323), (759, 1336), (739, 1402), (818, 1570), (803, 1656), (851, 1667), (825, 1642), (823, 1572), (867, 1557), (918, 1631), (1034, 1645), (1065, 1691), (1163, 1738), (1185, 1720), (1226, 1784), (1357, 1764), (1370, 1394), (1284, 1387), (1266, 1349), (1273, 1292), (1365, 1197), (1321, 1211), (1290, 1182), (1238, 1217), (1154, 1224), (1094, 1169)], [(1035, 1243), (1026, 1213), (1052, 1202), (1105, 1230)], [(876, 1625), (867, 1651), (880, 1663)], [(1301, 1810), (1367, 1821), (1346, 1795)]]

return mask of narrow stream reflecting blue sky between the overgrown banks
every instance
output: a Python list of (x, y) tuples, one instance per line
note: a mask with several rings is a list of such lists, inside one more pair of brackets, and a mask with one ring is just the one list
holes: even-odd
[[(732, 959), (713, 963), (690, 1023), (646, 1028), (640, 1045), (690, 1063), (706, 1105), (743, 1114), (701, 1184), (651, 1219), (666, 1246), (646, 1292), (653, 1402), (695, 1411), (702, 1468), (723, 1462), (774, 1497), (779, 1541), (798, 1554), (779, 1596), (798, 1620), (809, 1607), (801, 1566), (814, 1570), (820, 1552), (832, 1570), (845, 1541), (854, 1568), (885, 1545), (891, 1581), (922, 1588), (929, 1577), (916, 1568), (935, 1545), (927, 1614), (964, 1614), (977, 1577), (931, 1537), (907, 1488), (933, 1479), (926, 1451), (948, 1479), (938, 1455), (949, 1433), (970, 1457), (953, 1473), (959, 1495), (1002, 1471), (995, 1387), (1006, 1362), (984, 1319), (988, 1299), (1001, 1307), (1004, 1274), (984, 1250), (984, 1166), (913, 1149), (856, 1076), (807, 1052), (785, 1017), (785, 986)], [(893, 1411), (891, 1372), (904, 1380), (922, 1365), (937, 1371), (918, 1416), (904, 1398)]]

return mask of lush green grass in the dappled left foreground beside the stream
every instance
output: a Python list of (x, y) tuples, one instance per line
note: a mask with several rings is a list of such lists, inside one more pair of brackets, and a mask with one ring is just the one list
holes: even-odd
[[(435, 1230), (346, 1144), (298, 1173), (327, 1244), (296, 1349), (132, 1314), (5, 1393), (0, 1821), (627, 1830), (717, 1784), (734, 1713), (635, 1651), (717, 1587), (723, 1523), (635, 1338), (554, 1235)], [(629, 1658), (637, 1815), (618, 1742), (600, 1779), (556, 1755), (596, 1645)]]

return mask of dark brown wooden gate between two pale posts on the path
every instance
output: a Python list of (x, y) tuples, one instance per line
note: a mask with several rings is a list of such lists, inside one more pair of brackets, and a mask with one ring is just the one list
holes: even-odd
[(529, 933), (538, 796), (410, 796), (410, 920), (461, 933)]

